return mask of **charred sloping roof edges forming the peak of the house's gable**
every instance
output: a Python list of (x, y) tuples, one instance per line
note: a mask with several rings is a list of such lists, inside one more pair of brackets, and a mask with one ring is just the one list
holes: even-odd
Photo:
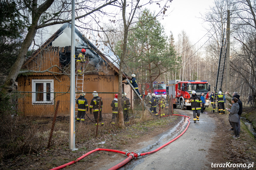
[[(41, 49), (46, 48), (47, 46), (49, 46), (50, 43), (52, 43), (56, 38), (58, 38), (59, 35), (61, 35), (63, 33), (63, 30), (65, 30), (67, 27), (71, 28), (71, 24), (70, 23), (64, 23), (47, 41), (45, 41), (45, 43), (40, 46), (22, 65), (22, 67), (32, 61), (31, 58), (33, 58), (34, 56), (36, 56), (39, 51)], [(77, 30), (77, 28), (75, 27), (75, 33), (77, 34), (77, 36), (79, 38), (81, 38), (84, 43), (87, 43), (88, 46), (90, 46), (103, 60), (105, 60), (108, 63), (112, 63), (96, 46), (94, 46), (84, 35), (82, 35), (82, 33), (79, 32), (79, 30)], [(113, 64), (113, 63), (112, 63)], [(110, 64), (109, 64), (110, 65)], [(113, 64), (113, 69), (118, 73), (119, 72), (119, 68), (117, 68), (115, 66), (115, 64)], [(127, 77), (127, 75), (123, 72), (123, 77)]]

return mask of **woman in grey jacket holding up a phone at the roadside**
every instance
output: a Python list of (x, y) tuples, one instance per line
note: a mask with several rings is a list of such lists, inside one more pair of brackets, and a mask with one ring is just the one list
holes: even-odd
[(237, 103), (238, 99), (233, 97), (231, 102), (232, 106), (231, 109), (226, 108), (229, 111), (228, 119), (232, 123), (232, 126), (234, 128), (235, 136), (233, 138), (239, 138), (240, 135), (238, 134), (238, 128), (237, 128), (237, 122), (238, 122), (238, 111), (239, 111), (239, 105)]

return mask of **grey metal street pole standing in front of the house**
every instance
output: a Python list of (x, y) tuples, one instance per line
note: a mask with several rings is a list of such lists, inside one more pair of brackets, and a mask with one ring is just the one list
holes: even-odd
[(70, 114), (69, 114), (69, 149), (75, 148), (75, 1), (72, 0), (71, 17), (71, 67), (70, 67)]

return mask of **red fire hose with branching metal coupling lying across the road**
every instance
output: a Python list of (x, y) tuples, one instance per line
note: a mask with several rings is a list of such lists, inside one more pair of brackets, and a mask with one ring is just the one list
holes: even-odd
[[(184, 116), (184, 115), (179, 115), (179, 114), (173, 114), (173, 115), (176, 115), (176, 116)], [(165, 116), (162, 116), (162, 117), (165, 117)], [(71, 161), (71, 162), (69, 162), (69, 163), (66, 163), (66, 164), (64, 164), (64, 165), (58, 166), (58, 167), (53, 168), (53, 169), (50, 169), (50, 170), (62, 169), (62, 168), (64, 168), (64, 167), (66, 167), (66, 166), (69, 166), (69, 165), (71, 165), (71, 164), (73, 164), (73, 163), (76, 163), (76, 162), (80, 161), (82, 158), (85, 158), (86, 156), (88, 156), (88, 155), (90, 155), (91, 153), (96, 152), (96, 151), (98, 151), (98, 150), (106, 150), (106, 151), (110, 151), (110, 152), (122, 153), (122, 154), (127, 155), (128, 158), (126, 158), (124, 161), (118, 163), (117, 165), (113, 166), (113, 167), (110, 168), (109, 170), (116, 170), (116, 169), (119, 169), (120, 167), (124, 166), (126, 163), (128, 163), (129, 161), (131, 161), (134, 157), (137, 158), (137, 157), (139, 157), (139, 156), (144, 156), (144, 155), (149, 155), (149, 154), (155, 153), (155, 152), (157, 152), (158, 150), (162, 149), (163, 147), (165, 147), (165, 146), (169, 145), (170, 143), (172, 143), (174, 140), (178, 139), (181, 135), (183, 135), (183, 134), (185, 133), (185, 131), (187, 130), (187, 128), (188, 128), (188, 126), (189, 126), (189, 124), (190, 124), (190, 121), (189, 121), (190, 117), (189, 117), (189, 116), (184, 116), (184, 117), (188, 117), (188, 119), (187, 119), (188, 124), (187, 124), (186, 129), (185, 129), (179, 136), (175, 137), (173, 140), (169, 141), (168, 143), (166, 143), (166, 144), (160, 146), (159, 148), (157, 148), (157, 149), (155, 149), (155, 150), (153, 150), (153, 151), (146, 152), (146, 153), (133, 153), (133, 152), (132, 152), (132, 153), (125, 153), (125, 152), (120, 151), (120, 150), (97, 148), (97, 149), (94, 149), (94, 150), (92, 150), (92, 151), (90, 151), (90, 152), (84, 154), (83, 156), (77, 158), (77, 160), (75, 160), (75, 161)]]

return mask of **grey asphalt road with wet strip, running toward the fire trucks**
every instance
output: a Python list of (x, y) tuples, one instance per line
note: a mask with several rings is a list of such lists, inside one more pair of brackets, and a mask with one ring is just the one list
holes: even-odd
[[(199, 122), (193, 122), (193, 113), (190, 110), (175, 109), (178, 114), (190, 116), (190, 125), (187, 131), (177, 140), (162, 148), (161, 150), (147, 155), (141, 156), (137, 159), (131, 160), (120, 170), (198, 170), (198, 169), (211, 169), (211, 161), (206, 159), (209, 147), (212, 142), (212, 137), (216, 134), (214, 120), (208, 114), (201, 114)], [(161, 145), (167, 143), (173, 138), (177, 137), (187, 126), (187, 118), (182, 119), (176, 127), (170, 129), (168, 132), (163, 132), (157, 137), (142, 141), (138, 143), (140, 149), (139, 153), (149, 152), (155, 150)], [(131, 148), (132, 151), (138, 148)], [(123, 161), (126, 157), (115, 154), (110, 157), (108, 163), (101, 164), (103, 167), (100, 169), (109, 169), (112, 166)], [(94, 167), (95, 168), (95, 167)], [(89, 169), (94, 169), (93, 167)]]

